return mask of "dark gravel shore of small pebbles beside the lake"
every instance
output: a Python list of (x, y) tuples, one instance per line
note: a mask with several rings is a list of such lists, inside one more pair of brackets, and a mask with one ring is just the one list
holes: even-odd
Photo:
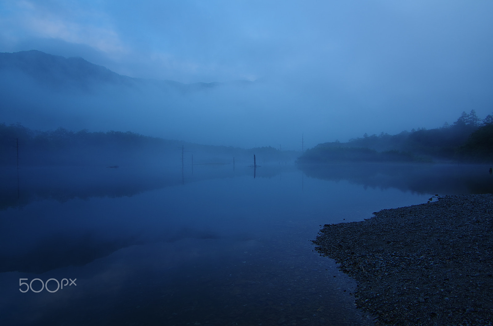
[(492, 194), (374, 215), (325, 224), (314, 243), (357, 281), (356, 305), (375, 325), (493, 324)]

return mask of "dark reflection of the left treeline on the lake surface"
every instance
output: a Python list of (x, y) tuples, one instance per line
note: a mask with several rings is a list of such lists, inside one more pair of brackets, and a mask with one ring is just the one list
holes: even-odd
[[(228, 165), (195, 165), (183, 171), (186, 182), (232, 178), (250, 175), (246, 165), (232, 171)], [(129, 171), (130, 170), (130, 171)], [(281, 168), (265, 166), (257, 171), (259, 178), (279, 175)], [(144, 169), (129, 167), (119, 169), (103, 168), (21, 168), (19, 177), (16, 169), (0, 170), (0, 210), (9, 207), (23, 207), (43, 199), (65, 202), (74, 198), (123, 197), (145, 191), (182, 184), (179, 169)]]

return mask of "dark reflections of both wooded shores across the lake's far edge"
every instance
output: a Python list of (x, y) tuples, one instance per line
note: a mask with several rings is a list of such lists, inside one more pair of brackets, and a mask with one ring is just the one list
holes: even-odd
[[(195, 166), (196, 173), (193, 173)], [(293, 171), (292, 166), (263, 166), (258, 174), (253, 166), (253, 177), (273, 178), (282, 171)], [(419, 193), (464, 194), (492, 193), (492, 169), (488, 166), (454, 164), (334, 164), (299, 165), (304, 176), (327, 181), (350, 181), (365, 187), (397, 188)], [(117, 171), (116, 171), (117, 170)], [(178, 172), (179, 171), (179, 172)], [(176, 167), (119, 169), (57, 167), (0, 170), (0, 210), (23, 207), (37, 200), (55, 199), (65, 202), (74, 198), (133, 196), (145, 191), (186, 182), (248, 175), (247, 166), (233, 170), (220, 165), (190, 165)], [(179, 177), (178, 177), (179, 176)]]

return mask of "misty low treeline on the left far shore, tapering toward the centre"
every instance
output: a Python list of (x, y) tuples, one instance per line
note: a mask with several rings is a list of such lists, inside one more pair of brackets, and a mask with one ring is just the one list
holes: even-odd
[(143, 136), (130, 131), (77, 132), (65, 128), (35, 131), (21, 124), (0, 123), (0, 165), (185, 165), (257, 164), (292, 161), (298, 153), (271, 146), (239, 148), (213, 146)]

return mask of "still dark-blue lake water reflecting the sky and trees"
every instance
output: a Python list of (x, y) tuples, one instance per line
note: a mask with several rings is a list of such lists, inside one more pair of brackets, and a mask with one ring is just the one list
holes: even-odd
[(488, 169), (3, 169), (0, 325), (372, 325), (320, 225), (492, 192)]

